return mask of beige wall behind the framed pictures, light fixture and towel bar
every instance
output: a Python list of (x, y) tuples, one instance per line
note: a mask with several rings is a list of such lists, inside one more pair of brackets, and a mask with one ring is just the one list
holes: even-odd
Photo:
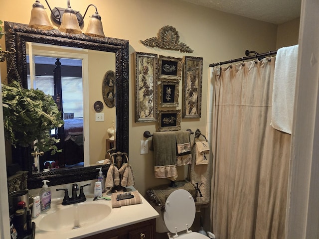
[[(31, 5), (34, 0), (11, 0), (1, 5), (0, 18), (5, 21), (28, 23)], [(51, 7), (65, 7), (65, 0), (55, 2)], [(43, 4), (46, 4), (44, 1)], [(244, 56), (246, 49), (257, 52), (276, 50), (277, 25), (226, 14), (179, 0), (117, 0), (71, 1), (72, 8), (84, 13), (85, 6), (96, 4), (102, 17), (104, 32), (109, 37), (128, 39), (130, 42), (130, 104), (129, 104), (129, 158), (132, 164), (136, 184), (135, 187), (145, 195), (150, 187), (168, 183), (165, 179), (155, 179), (153, 174), (153, 154), (140, 155), (140, 140), (144, 140), (143, 132), (156, 131), (153, 122), (134, 122), (134, 62), (133, 52), (156, 53), (164, 56), (182, 57), (184, 55), (203, 57), (203, 91), (202, 111), (200, 119), (182, 119), (181, 129), (199, 128), (206, 132), (207, 78), (210, 63), (235, 59)], [(11, 14), (11, 9), (15, 14)], [(93, 9), (88, 14), (92, 14)], [(86, 17), (85, 22), (88, 22)], [(157, 33), (164, 25), (171, 25), (179, 33), (180, 41), (194, 50), (191, 54), (177, 51), (149, 48), (140, 40), (145, 40)], [(84, 30), (86, 26), (84, 26)], [(4, 39), (0, 40), (2, 47)], [(4, 64), (0, 64), (1, 72), (5, 72)], [(5, 76), (2, 75), (2, 79)], [(181, 91), (180, 84), (180, 91)], [(181, 95), (180, 95), (181, 109)], [(106, 130), (106, 129), (105, 129)], [(179, 178), (186, 177), (186, 170), (178, 170)]]

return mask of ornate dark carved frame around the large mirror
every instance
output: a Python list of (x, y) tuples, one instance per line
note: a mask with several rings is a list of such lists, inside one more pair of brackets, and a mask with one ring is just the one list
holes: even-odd
[[(116, 150), (129, 152), (129, 41), (117, 38), (97, 38), (84, 34), (68, 34), (53, 30), (38, 30), (26, 24), (4, 22), (5, 47), (15, 49), (15, 59), (7, 59), (7, 68), (11, 60), (15, 60), (22, 85), (27, 85), (25, 42), (36, 42), (59, 46), (85, 48), (98, 51), (114, 52), (116, 58)], [(8, 73), (8, 79), (12, 79)], [(96, 166), (56, 170), (32, 174), (31, 156), (25, 157), (28, 165), (28, 189), (40, 188), (43, 179), (50, 180), (50, 185), (73, 183), (96, 178)], [(103, 165), (103, 171), (108, 166)]]

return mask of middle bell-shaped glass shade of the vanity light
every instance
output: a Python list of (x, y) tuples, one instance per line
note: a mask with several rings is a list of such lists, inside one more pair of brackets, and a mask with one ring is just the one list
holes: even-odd
[(59, 31), (73, 34), (82, 33), (78, 19), (76, 18), (76, 15), (74, 14), (72, 8), (68, 7), (65, 9), (62, 15), (62, 21), (59, 27)]

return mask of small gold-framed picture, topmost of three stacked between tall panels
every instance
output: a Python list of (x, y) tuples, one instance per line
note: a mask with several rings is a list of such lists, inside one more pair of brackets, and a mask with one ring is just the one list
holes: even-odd
[(159, 56), (159, 79), (181, 80), (182, 58)]

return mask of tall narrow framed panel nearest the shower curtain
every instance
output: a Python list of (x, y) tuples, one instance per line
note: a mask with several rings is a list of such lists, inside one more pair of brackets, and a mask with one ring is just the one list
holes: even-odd
[(182, 118), (200, 118), (203, 58), (183, 57)]

